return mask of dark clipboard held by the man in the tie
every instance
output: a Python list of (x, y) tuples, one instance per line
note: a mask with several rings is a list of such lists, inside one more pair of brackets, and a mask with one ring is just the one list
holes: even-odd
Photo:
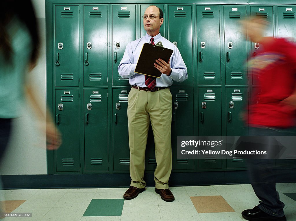
[(172, 54), (173, 50), (171, 49), (145, 43), (136, 65), (135, 72), (160, 78), (162, 73), (154, 67), (154, 63), (156, 63), (155, 60), (161, 58), (168, 63)]

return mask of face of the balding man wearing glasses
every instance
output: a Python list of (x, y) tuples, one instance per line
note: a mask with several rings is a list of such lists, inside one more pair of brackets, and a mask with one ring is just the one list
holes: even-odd
[[(149, 32), (157, 32), (158, 34), (160, 26), (163, 23), (163, 18), (159, 18), (159, 9), (155, 6), (150, 6), (146, 9), (144, 15), (149, 15), (149, 17), (143, 21), (145, 30), (148, 32), (148, 34)], [(155, 19), (151, 19), (150, 15), (157, 17)]]

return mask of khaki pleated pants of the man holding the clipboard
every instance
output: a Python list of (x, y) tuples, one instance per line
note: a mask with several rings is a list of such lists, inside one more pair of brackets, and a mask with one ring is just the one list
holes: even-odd
[(155, 187), (167, 189), (172, 170), (172, 95), (170, 89), (147, 92), (131, 88), (128, 94), (128, 139), (131, 186), (144, 188), (145, 150), (151, 121), (157, 166)]

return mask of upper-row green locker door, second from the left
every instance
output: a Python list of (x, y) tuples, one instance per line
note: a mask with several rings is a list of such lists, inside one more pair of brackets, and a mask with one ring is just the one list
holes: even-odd
[(107, 86), (107, 5), (84, 6), (84, 86)]

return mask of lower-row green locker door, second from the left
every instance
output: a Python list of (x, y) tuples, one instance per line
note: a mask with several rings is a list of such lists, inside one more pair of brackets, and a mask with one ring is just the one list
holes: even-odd
[(84, 90), (85, 171), (108, 171), (107, 89)]

